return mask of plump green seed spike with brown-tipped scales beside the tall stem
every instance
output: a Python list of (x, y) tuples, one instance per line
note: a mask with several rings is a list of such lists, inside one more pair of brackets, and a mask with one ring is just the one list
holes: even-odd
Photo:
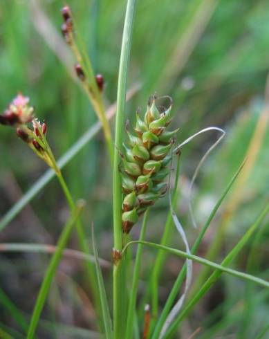
[(175, 131), (167, 131), (171, 122), (171, 106), (160, 112), (156, 95), (149, 98), (143, 118), (136, 112), (134, 134), (127, 122), (127, 145), (122, 155), (122, 230), (129, 233), (138, 217), (154, 205), (167, 190), (165, 178), (169, 174), (170, 149)]

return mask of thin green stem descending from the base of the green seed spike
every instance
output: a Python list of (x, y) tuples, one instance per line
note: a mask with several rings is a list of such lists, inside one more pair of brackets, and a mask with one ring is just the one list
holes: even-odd
[[(145, 239), (146, 228), (147, 228), (147, 219), (148, 219), (149, 209), (145, 212), (142, 228), (140, 232), (140, 241)], [(125, 338), (132, 339), (133, 338), (133, 324), (136, 318), (136, 296), (138, 293), (138, 280), (140, 273), (140, 264), (141, 264), (141, 256), (142, 256), (142, 244), (138, 245), (138, 250), (136, 253), (136, 263), (133, 268), (133, 281), (130, 291), (130, 300), (128, 305), (128, 313), (127, 313), (127, 328)]]

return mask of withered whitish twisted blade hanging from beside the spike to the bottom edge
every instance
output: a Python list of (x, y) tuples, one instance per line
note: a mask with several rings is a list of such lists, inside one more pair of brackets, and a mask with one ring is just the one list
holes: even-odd
[[(171, 203), (171, 190), (170, 190), (170, 180), (171, 180), (171, 171), (170, 171), (170, 176), (169, 176), (169, 205), (170, 205), (170, 211), (171, 211), (171, 216), (172, 219), (174, 221), (174, 224), (180, 234), (180, 237), (183, 239), (183, 243), (185, 245), (186, 248), (186, 253), (187, 254), (191, 254), (190, 250), (189, 250), (189, 244), (187, 242), (187, 237), (185, 234), (185, 231), (183, 229), (183, 226), (181, 225), (180, 221), (178, 220), (178, 217), (176, 216), (176, 212), (174, 212), (174, 208), (173, 205)], [(171, 322), (174, 320), (174, 318), (176, 318), (176, 315), (178, 315), (178, 312), (180, 311), (183, 302), (185, 300), (185, 297), (187, 295), (187, 291), (189, 290), (189, 286), (192, 282), (192, 260), (191, 259), (186, 259), (186, 282), (185, 282), (185, 288), (184, 288), (184, 292), (183, 295), (181, 295), (180, 299), (178, 300), (178, 302), (176, 302), (175, 306), (173, 307), (173, 309), (171, 309), (169, 315), (167, 315), (167, 319), (165, 320), (165, 323), (163, 324), (163, 328), (160, 331), (160, 339), (163, 338), (163, 336), (165, 335), (165, 332), (167, 331), (167, 329), (169, 328)]]

